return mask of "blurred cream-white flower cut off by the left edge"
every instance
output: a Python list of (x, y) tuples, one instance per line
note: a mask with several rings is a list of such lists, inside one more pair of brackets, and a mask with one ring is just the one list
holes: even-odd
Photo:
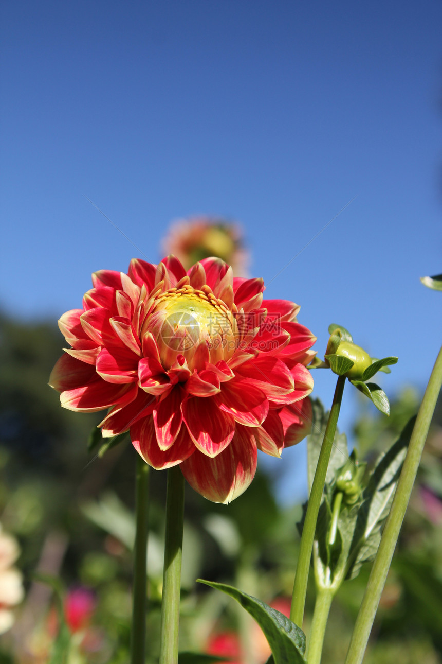
[(17, 540), (12, 535), (3, 533), (0, 525), (0, 634), (12, 627), (15, 620), (13, 607), (19, 604), (25, 595), (23, 576), (12, 566), (19, 554)]

